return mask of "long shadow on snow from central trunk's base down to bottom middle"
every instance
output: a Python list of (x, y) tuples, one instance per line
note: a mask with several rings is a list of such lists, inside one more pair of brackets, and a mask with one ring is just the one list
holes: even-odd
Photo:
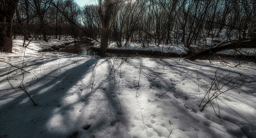
[[(90, 128), (86, 131), (98, 135), (92, 135), (89, 133), (87, 135), (78, 135), (78, 137), (130, 137), (129, 133), (127, 133), (129, 130), (127, 129), (127, 116), (124, 114), (124, 108), (122, 108), (122, 105), (118, 99), (118, 87), (113, 83), (113, 79), (111, 78), (112, 74), (108, 75), (108, 71), (110, 71), (109, 69), (111, 69), (112, 66), (110, 65), (109, 61), (105, 64), (108, 64), (108, 66), (104, 67), (104, 76), (106, 77), (101, 78), (101, 83), (97, 84), (97, 87), (92, 91), (93, 95), (99, 96), (98, 99), (101, 99), (100, 96), (102, 96), (103, 100), (98, 101), (94, 98), (93, 101), (90, 101), (89, 94), (83, 96), (83, 101), (86, 101), (86, 104), (98, 101), (97, 110), (89, 112), (91, 115), (89, 115), (89, 121), (87, 121), (87, 125), (85, 125), (88, 126), (88, 124), (90, 124)], [(94, 118), (94, 120), (90, 121), (90, 118)], [(102, 130), (103, 128), (104, 130)], [(111, 134), (102, 135), (104, 134), (102, 131), (110, 130)]]

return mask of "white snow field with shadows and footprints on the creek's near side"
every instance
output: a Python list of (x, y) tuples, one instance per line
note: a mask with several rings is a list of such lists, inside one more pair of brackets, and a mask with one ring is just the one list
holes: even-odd
[(36, 41), (24, 56), (22, 42), (0, 53), (1, 138), (256, 137), (254, 63), (37, 53), (51, 42)]

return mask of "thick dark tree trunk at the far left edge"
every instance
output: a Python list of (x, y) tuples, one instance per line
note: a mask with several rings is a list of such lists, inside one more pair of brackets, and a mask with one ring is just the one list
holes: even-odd
[(0, 52), (12, 53), (12, 27), (18, 0), (0, 1)]

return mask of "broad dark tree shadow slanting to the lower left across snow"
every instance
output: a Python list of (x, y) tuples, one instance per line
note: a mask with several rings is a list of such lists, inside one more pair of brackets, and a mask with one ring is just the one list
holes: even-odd
[[(86, 61), (84, 64), (91, 64), (94, 62), (95, 62), (95, 60), (91, 59), (89, 61)], [(81, 77), (83, 77), (83, 75), (88, 73), (89, 67), (84, 66), (84, 64), (81, 64), (79, 66), (76, 66), (72, 69), (69, 69), (69, 70), (63, 72), (62, 74), (59, 75), (58, 79), (50, 80), (48, 83), (41, 85), (38, 88), (35, 88), (33, 91), (29, 92), (29, 94), (31, 94), (34, 101), (38, 104), (37, 107), (34, 107), (32, 105), (31, 101), (29, 101), (29, 100), (26, 101), (26, 99), (27, 99), (26, 95), (17, 96), (12, 101), (9, 101), (7, 104), (4, 104), (3, 106), (1, 106), (1, 112), (0, 112), (1, 119), (5, 118), (6, 120), (8, 120), (7, 119), (8, 118), (8, 113), (7, 113), (8, 109), (15, 108), (15, 106), (18, 106), (17, 104), (23, 103), (25, 101), (25, 103), (28, 103), (28, 104), (26, 104), (26, 105), (21, 104), (21, 107), (19, 110), (11, 113), (12, 116), (13, 116), (13, 114), (18, 115), (18, 116), (25, 115), (26, 117), (23, 116), (24, 118), (34, 118), (35, 120), (39, 120), (41, 118), (42, 120), (48, 120), (48, 118), (50, 118), (50, 116), (52, 114), (50, 113), (51, 111), (49, 111), (49, 109), (47, 109), (47, 107), (50, 107), (50, 108), (52, 108), (50, 110), (53, 110), (54, 107), (60, 106), (61, 99), (63, 99), (64, 96), (66, 95), (68, 88), (72, 87), (72, 85), (75, 85), (81, 79)], [(80, 72), (75, 72), (75, 70), (80, 71)], [(59, 80), (61, 80), (61, 81), (59, 81)], [(62, 90), (57, 90), (57, 88), (59, 88), (59, 86), (57, 86), (58, 83), (65, 83), (64, 88)], [(52, 88), (47, 88), (48, 85), (54, 85), (54, 86)], [(39, 93), (42, 90), (45, 90), (45, 91), (43, 93)], [(57, 93), (57, 91), (58, 91), (58, 93)], [(59, 94), (59, 93), (61, 93), (61, 94)], [(48, 101), (50, 101), (50, 103)], [(32, 108), (33, 110), (31, 112), (20, 113), (20, 111), (22, 111), (22, 110), (26, 111), (27, 110), (26, 108)], [(47, 112), (39, 112), (40, 108), (46, 108)], [(37, 115), (34, 115), (35, 113)], [(22, 123), (25, 123), (25, 122), (23, 122), (23, 120), (15, 120), (15, 121), (17, 121), (16, 122), (17, 125), (21, 125), (21, 126), (22, 126)], [(28, 122), (26, 122), (26, 123), (28, 123)], [(39, 128), (42, 128), (42, 125), (43, 124), (41, 124), (41, 127), (39, 127)], [(4, 127), (4, 126), (5, 125), (1, 125), (1, 127)], [(13, 127), (18, 127), (18, 126), (15, 125)], [(9, 129), (12, 129), (12, 127)], [(23, 131), (25, 131), (25, 130), (26, 129), (24, 128), (24, 129), (21, 129), (20, 131), (14, 132), (14, 133), (15, 134), (23, 133)], [(18, 136), (18, 135), (16, 135), (16, 136)]]

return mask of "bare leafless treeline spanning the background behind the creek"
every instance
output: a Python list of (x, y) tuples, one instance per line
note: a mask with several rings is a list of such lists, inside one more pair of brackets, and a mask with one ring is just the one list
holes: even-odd
[(255, 0), (115, 0), (107, 13), (108, 7), (100, 4), (108, 1), (80, 8), (73, 0), (20, 0), (14, 34), (23, 34), (26, 39), (35, 34), (45, 41), (48, 36), (64, 34), (99, 39), (104, 25), (100, 16), (109, 14), (108, 40), (119, 47), (121, 42), (132, 41), (143, 46), (172, 43), (190, 49), (207, 45), (207, 37), (222, 37), (222, 31), (224, 41), (255, 37)]

